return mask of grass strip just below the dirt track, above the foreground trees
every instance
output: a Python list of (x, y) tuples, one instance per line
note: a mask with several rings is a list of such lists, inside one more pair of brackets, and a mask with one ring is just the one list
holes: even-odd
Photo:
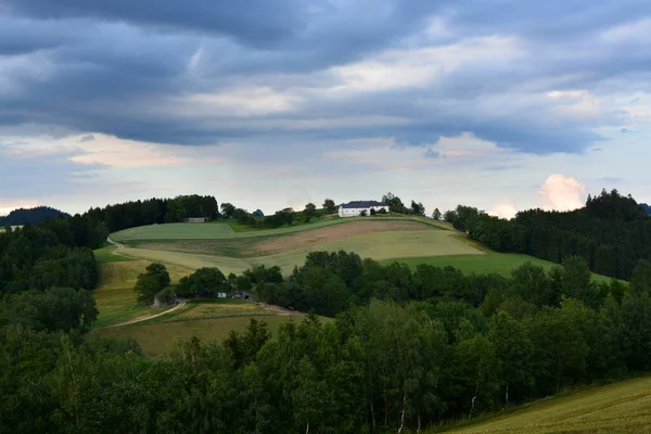
[[(275, 334), (283, 322), (292, 319), (301, 322), (304, 317), (303, 314), (292, 314), (289, 316), (269, 315), (256, 318), (265, 321), (269, 326), (270, 332)], [(162, 318), (165, 318), (165, 316)], [(99, 333), (107, 337), (133, 337), (140, 343), (144, 354), (148, 356), (158, 356), (171, 350), (175, 340), (189, 340), (193, 335), (196, 335), (203, 342), (222, 341), (231, 330), (244, 331), (251, 318), (252, 316), (234, 316), (195, 319), (192, 321), (144, 322), (104, 329), (100, 330)]]

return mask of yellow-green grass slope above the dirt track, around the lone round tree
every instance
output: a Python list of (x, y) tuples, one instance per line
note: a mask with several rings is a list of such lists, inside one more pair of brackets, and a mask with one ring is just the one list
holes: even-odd
[[(112, 326), (138, 317), (158, 314), (165, 309), (139, 306), (133, 292), (138, 275), (151, 264), (146, 260), (108, 261), (98, 266), (99, 284), (94, 291), (95, 305), (100, 315), (94, 324), (97, 328)], [(167, 265), (173, 281), (191, 273), (182, 267)]]

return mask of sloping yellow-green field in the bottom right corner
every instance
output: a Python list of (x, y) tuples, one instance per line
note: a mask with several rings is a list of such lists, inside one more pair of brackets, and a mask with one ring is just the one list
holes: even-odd
[(535, 403), (486, 422), (451, 431), (457, 434), (588, 434), (651, 432), (651, 378), (627, 380)]

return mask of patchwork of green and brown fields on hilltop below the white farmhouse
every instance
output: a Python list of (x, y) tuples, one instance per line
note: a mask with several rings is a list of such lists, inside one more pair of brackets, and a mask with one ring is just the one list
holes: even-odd
[(154, 225), (116, 232), (120, 253), (145, 260), (196, 269), (218, 267), (241, 272), (255, 265), (277, 265), (284, 273), (314, 251), (355, 252), (376, 260), (485, 255), (436, 222), (405, 217), (330, 219), (273, 230), (234, 232), (226, 224)]

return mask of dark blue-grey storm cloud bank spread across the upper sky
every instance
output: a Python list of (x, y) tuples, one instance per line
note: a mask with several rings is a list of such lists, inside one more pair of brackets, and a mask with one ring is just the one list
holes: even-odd
[[(0, 125), (61, 125), (180, 144), (269, 136), (291, 141), (294, 135), (317, 141), (393, 137), (426, 145), (442, 135), (472, 132), (531, 153), (582, 152), (600, 139), (595, 127), (618, 125), (622, 114), (573, 116), (557, 111), (558, 101), (532, 103), (528, 95), (648, 90), (650, 44), (636, 38), (607, 41), (602, 34), (644, 20), (650, 11), (647, 1), (615, 0), (589, 5), (574, 0), (0, 0)], [(427, 33), (434, 15), (444, 28)], [(190, 116), (170, 102), (247, 82), (290, 92), (296, 86), (327, 89), (337, 85), (329, 68), (385, 49), (476, 37), (514, 38), (526, 54), (471, 62), (416, 89), (334, 100), (317, 94), (295, 112), (250, 122), (215, 119), (209, 112)], [(407, 122), (293, 131), (293, 123), (302, 120), (363, 116)]]

